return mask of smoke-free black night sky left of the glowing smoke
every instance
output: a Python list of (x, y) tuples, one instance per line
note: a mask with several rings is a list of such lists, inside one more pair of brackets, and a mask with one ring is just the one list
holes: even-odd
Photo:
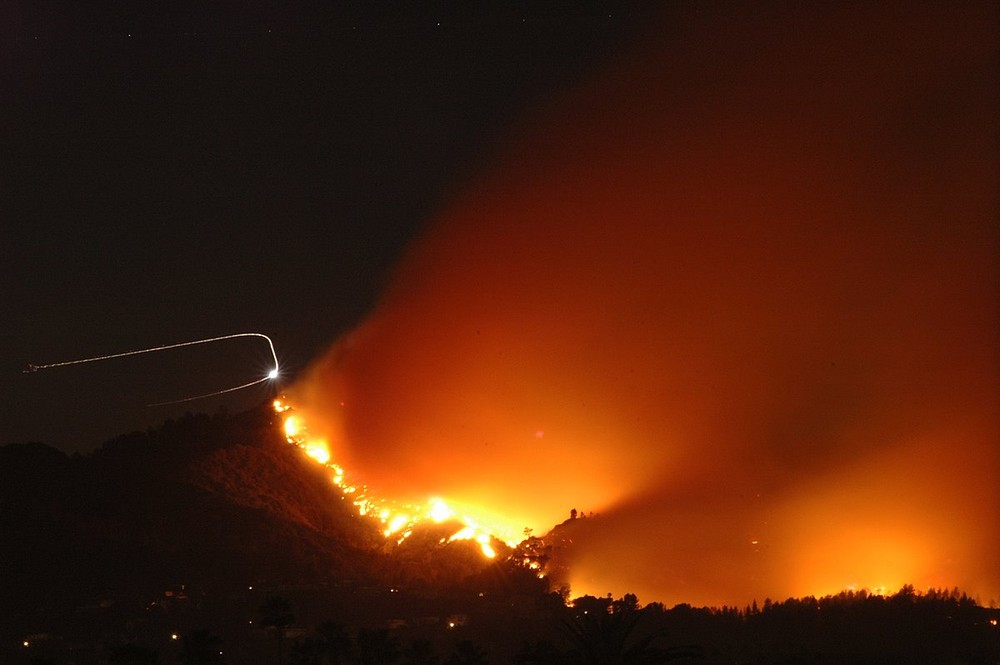
[[(337, 4), (330, 8), (327, 4)], [(86, 450), (267, 389), (357, 324), (515, 121), (626, 49), (621, 3), (22, 2), (0, 33), (0, 444)], [(455, 3), (460, 6), (461, 3)]]

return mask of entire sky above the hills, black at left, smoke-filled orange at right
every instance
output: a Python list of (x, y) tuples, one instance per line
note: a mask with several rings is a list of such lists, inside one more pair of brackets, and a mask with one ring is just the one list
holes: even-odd
[(1000, 597), (995, 3), (98, 6), (4, 22), (0, 442), (287, 387), (577, 592)]

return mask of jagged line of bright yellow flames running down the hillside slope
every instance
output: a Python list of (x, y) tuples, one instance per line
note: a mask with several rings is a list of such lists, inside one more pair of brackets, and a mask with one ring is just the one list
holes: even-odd
[(477, 519), (472, 511), (464, 509), (461, 512), (441, 497), (430, 497), (423, 503), (399, 504), (389, 499), (375, 497), (369, 494), (364, 485), (351, 483), (347, 480), (344, 468), (333, 461), (329, 443), (322, 438), (313, 438), (303, 422), (302, 417), (294, 413), (294, 409), (286, 402), (274, 400), (274, 411), (282, 417), (282, 429), (288, 443), (301, 448), (302, 451), (333, 472), (331, 481), (343, 493), (345, 498), (358, 510), (363, 517), (378, 520), (382, 525), (382, 535), (387, 539), (395, 539), (402, 543), (413, 530), (422, 523), (444, 524), (458, 522), (461, 527), (451, 536), (442, 538), (441, 542), (472, 540), (479, 545), (483, 556), (488, 559), (496, 557), (493, 542), (501, 541), (514, 547), (518, 539), (510, 529), (502, 525), (486, 525), (482, 518)]

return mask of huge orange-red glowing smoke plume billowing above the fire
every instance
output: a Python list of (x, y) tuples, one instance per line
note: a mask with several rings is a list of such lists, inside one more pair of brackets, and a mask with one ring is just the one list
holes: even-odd
[(292, 391), (337, 459), (600, 513), (578, 593), (1000, 598), (997, 9), (796, 7), (539, 113)]

